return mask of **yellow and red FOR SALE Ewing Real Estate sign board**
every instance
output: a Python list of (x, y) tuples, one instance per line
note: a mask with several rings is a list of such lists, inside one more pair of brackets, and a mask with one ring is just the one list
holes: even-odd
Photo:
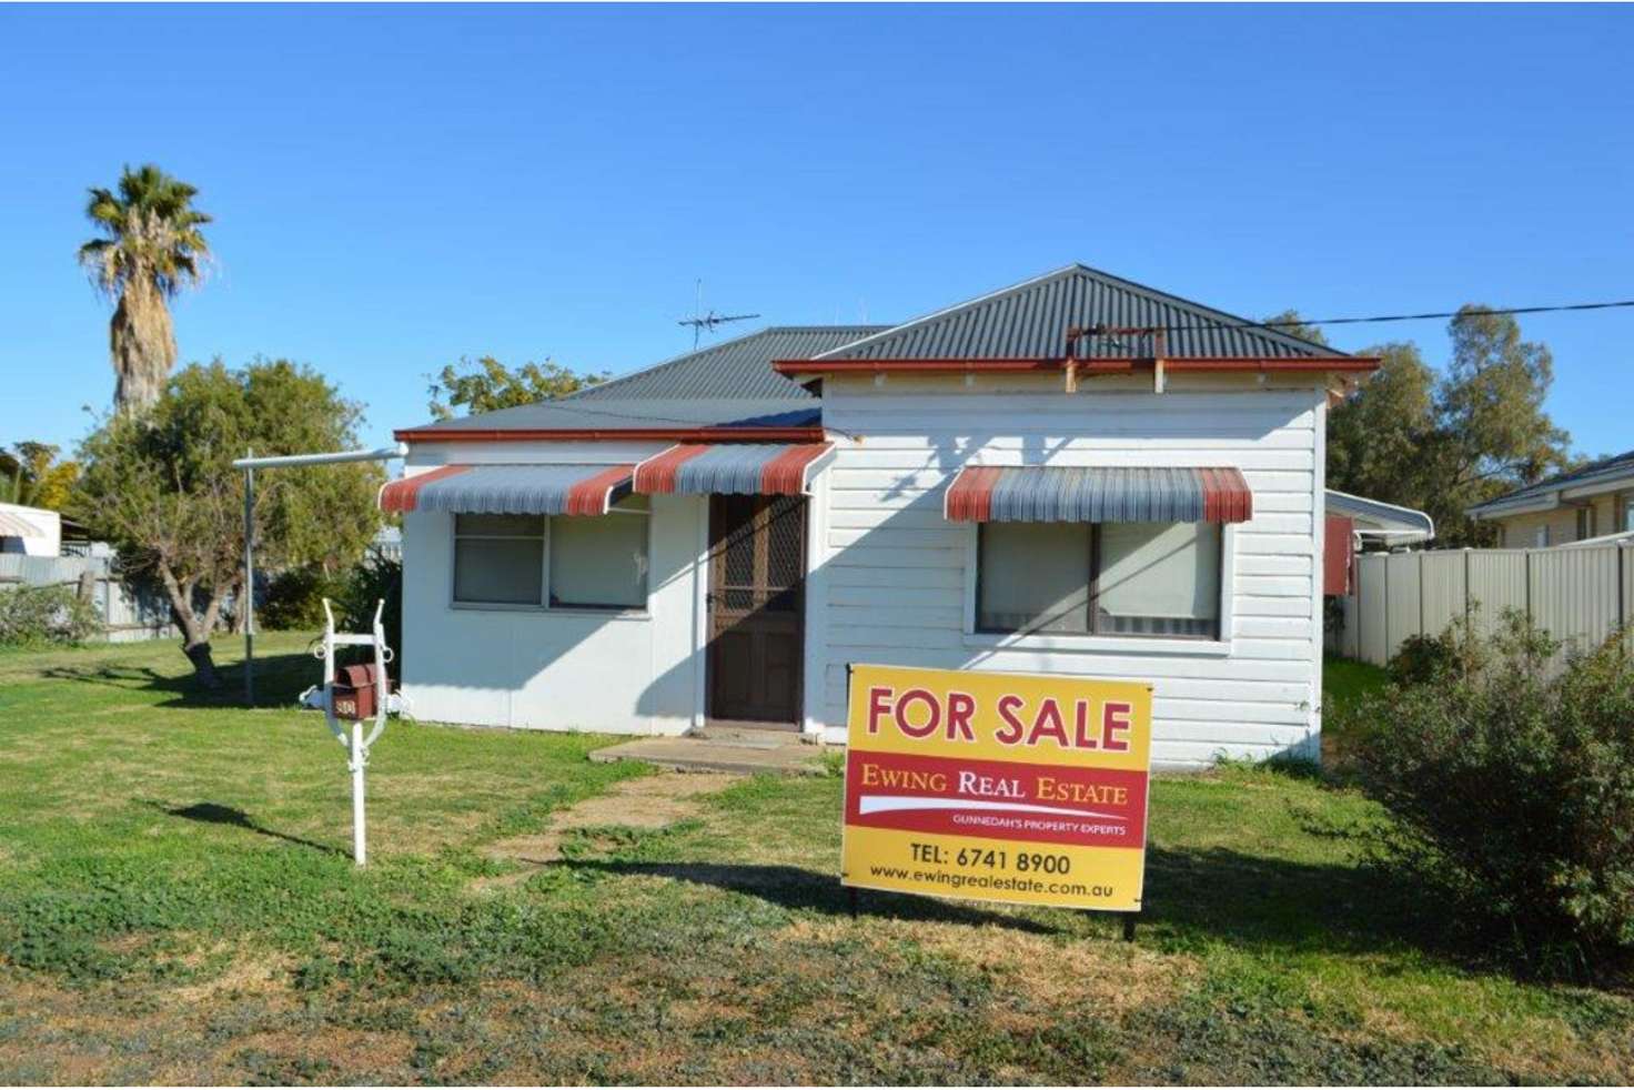
[(1152, 686), (851, 667), (842, 882), (1139, 912)]

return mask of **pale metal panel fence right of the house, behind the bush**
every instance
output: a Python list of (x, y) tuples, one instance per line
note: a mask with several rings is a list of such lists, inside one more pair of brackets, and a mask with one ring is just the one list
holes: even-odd
[(1626, 543), (1572, 549), (1364, 552), (1342, 598), (1338, 652), (1384, 665), (1409, 636), (1440, 636), (1469, 618), (1492, 632), (1520, 610), (1569, 647), (1590, 650), (1634, 621)]

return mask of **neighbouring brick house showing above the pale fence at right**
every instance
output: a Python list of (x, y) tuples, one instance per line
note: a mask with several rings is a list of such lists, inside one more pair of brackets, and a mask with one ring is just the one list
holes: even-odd
[(1544, 477), (1466, 511), (1497, 523), (1498, 546), (1546, 549), (1634, 529), (1634, 451)]

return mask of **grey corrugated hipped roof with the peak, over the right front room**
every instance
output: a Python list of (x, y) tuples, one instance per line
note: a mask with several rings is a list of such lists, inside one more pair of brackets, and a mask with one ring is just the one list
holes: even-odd
[[(1064, 355), (1074, 325), (1170, 327), (1170, 358), (1281, 360), (1343, 356), (1325, 345), (1268, 328), (1239, 328), (1248, 319), (1136, 284), (1085, 265), (1005, 288), (926, 314), (882, 333), (824, 353), (822, 360), (1042, 360)], [(1201, 328), (1199, 328), (1201, 327)], [(1132, 342), (1145, 343), (1132, 343)], [(1149, 356), (1147, 338), (1085, 337), (1078, 356)], [(797, 356), (794, 356), (797, 358)]]

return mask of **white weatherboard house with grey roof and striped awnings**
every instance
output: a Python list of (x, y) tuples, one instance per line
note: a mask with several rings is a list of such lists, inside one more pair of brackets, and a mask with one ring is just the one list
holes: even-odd
[(425, 719), (845, 740), (855, 662), (1137, 678), (1154, 755), (1314, 752), (1324, 425), (1376, 361), (1070, 266), (397, 433)]

